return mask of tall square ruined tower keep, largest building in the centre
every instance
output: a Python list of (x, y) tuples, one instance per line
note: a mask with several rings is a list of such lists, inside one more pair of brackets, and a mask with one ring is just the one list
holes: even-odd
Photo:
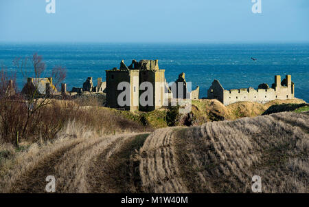
[[(158, 60), (141, 60), (139, 62), (133, 60), (128, 67), (122, 61), (120, 68), (106, 70), (106, 106), (125, 110), (140, 110), (152, 111), (162, 107), (165, 101), (166, 81), (164, 76), (164, 69), (159, 69)], [(119, 83), (126, 82), (129, 84), (130, 96), (129, 105), (120, 106), (118, 103), (118, 96), (124, 91), (118, 90)], [(142, 105), (139, 102), (139, 97), (144, 96), (144, 91), (148, 91), (143, 83), (149, 82), (152, 84), (152, 100), (150, 105)], [(146, 96), (148, 100), (148, 96)], [(151, 99), (150, 99), (151, 100)]]

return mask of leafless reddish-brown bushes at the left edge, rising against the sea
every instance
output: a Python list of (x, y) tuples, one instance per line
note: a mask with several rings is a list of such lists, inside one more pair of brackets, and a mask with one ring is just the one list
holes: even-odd
[[(46, 69), (43, 57), (34, 54), (31, 62), (34, 78), (41, 78)], [(24, 78), (27, 78), (27, 58), (16, 58), (14, 65)], [(65, 78), (65, 68), (54, 67), (52, 75), (56, 87)], [(38, 84), (34, 83), (34, 88), (27, 90), (27, 94), (16, 93), (16, 78), (10, 79), (8, 77), (2, 68), (0, 72), (1, 139), (18, 146), (20, 139), (54, 138), (63, 124), (63, 116), (60, 116), (63, 109), (51, 104), (46, 91), (45, 94), (38, 94)], [(14, 94), (8, 93), (8, 89), (11, 91), (14, 89)]]

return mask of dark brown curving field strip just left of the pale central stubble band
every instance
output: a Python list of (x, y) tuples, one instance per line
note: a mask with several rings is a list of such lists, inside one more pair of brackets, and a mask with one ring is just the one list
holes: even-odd
[(138, 151), (148, 133), (120, 138), (91, 162), (91, 193), (141, 193)]

